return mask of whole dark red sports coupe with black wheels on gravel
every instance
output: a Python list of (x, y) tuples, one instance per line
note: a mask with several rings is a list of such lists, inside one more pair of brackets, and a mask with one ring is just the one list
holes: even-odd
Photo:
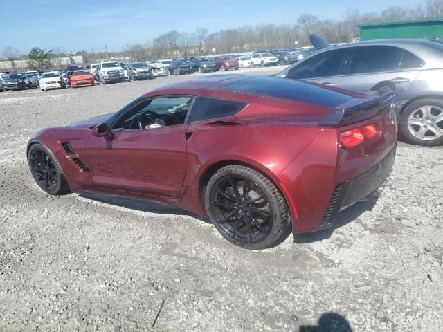
[(280, 77), (203, 77), (120, 111), (39, 131), (30, 171), (48, 194), (96, 191), (208, 216), (238, 246), (331, 227), (377, 192), (397, 144), (393, 93)]

